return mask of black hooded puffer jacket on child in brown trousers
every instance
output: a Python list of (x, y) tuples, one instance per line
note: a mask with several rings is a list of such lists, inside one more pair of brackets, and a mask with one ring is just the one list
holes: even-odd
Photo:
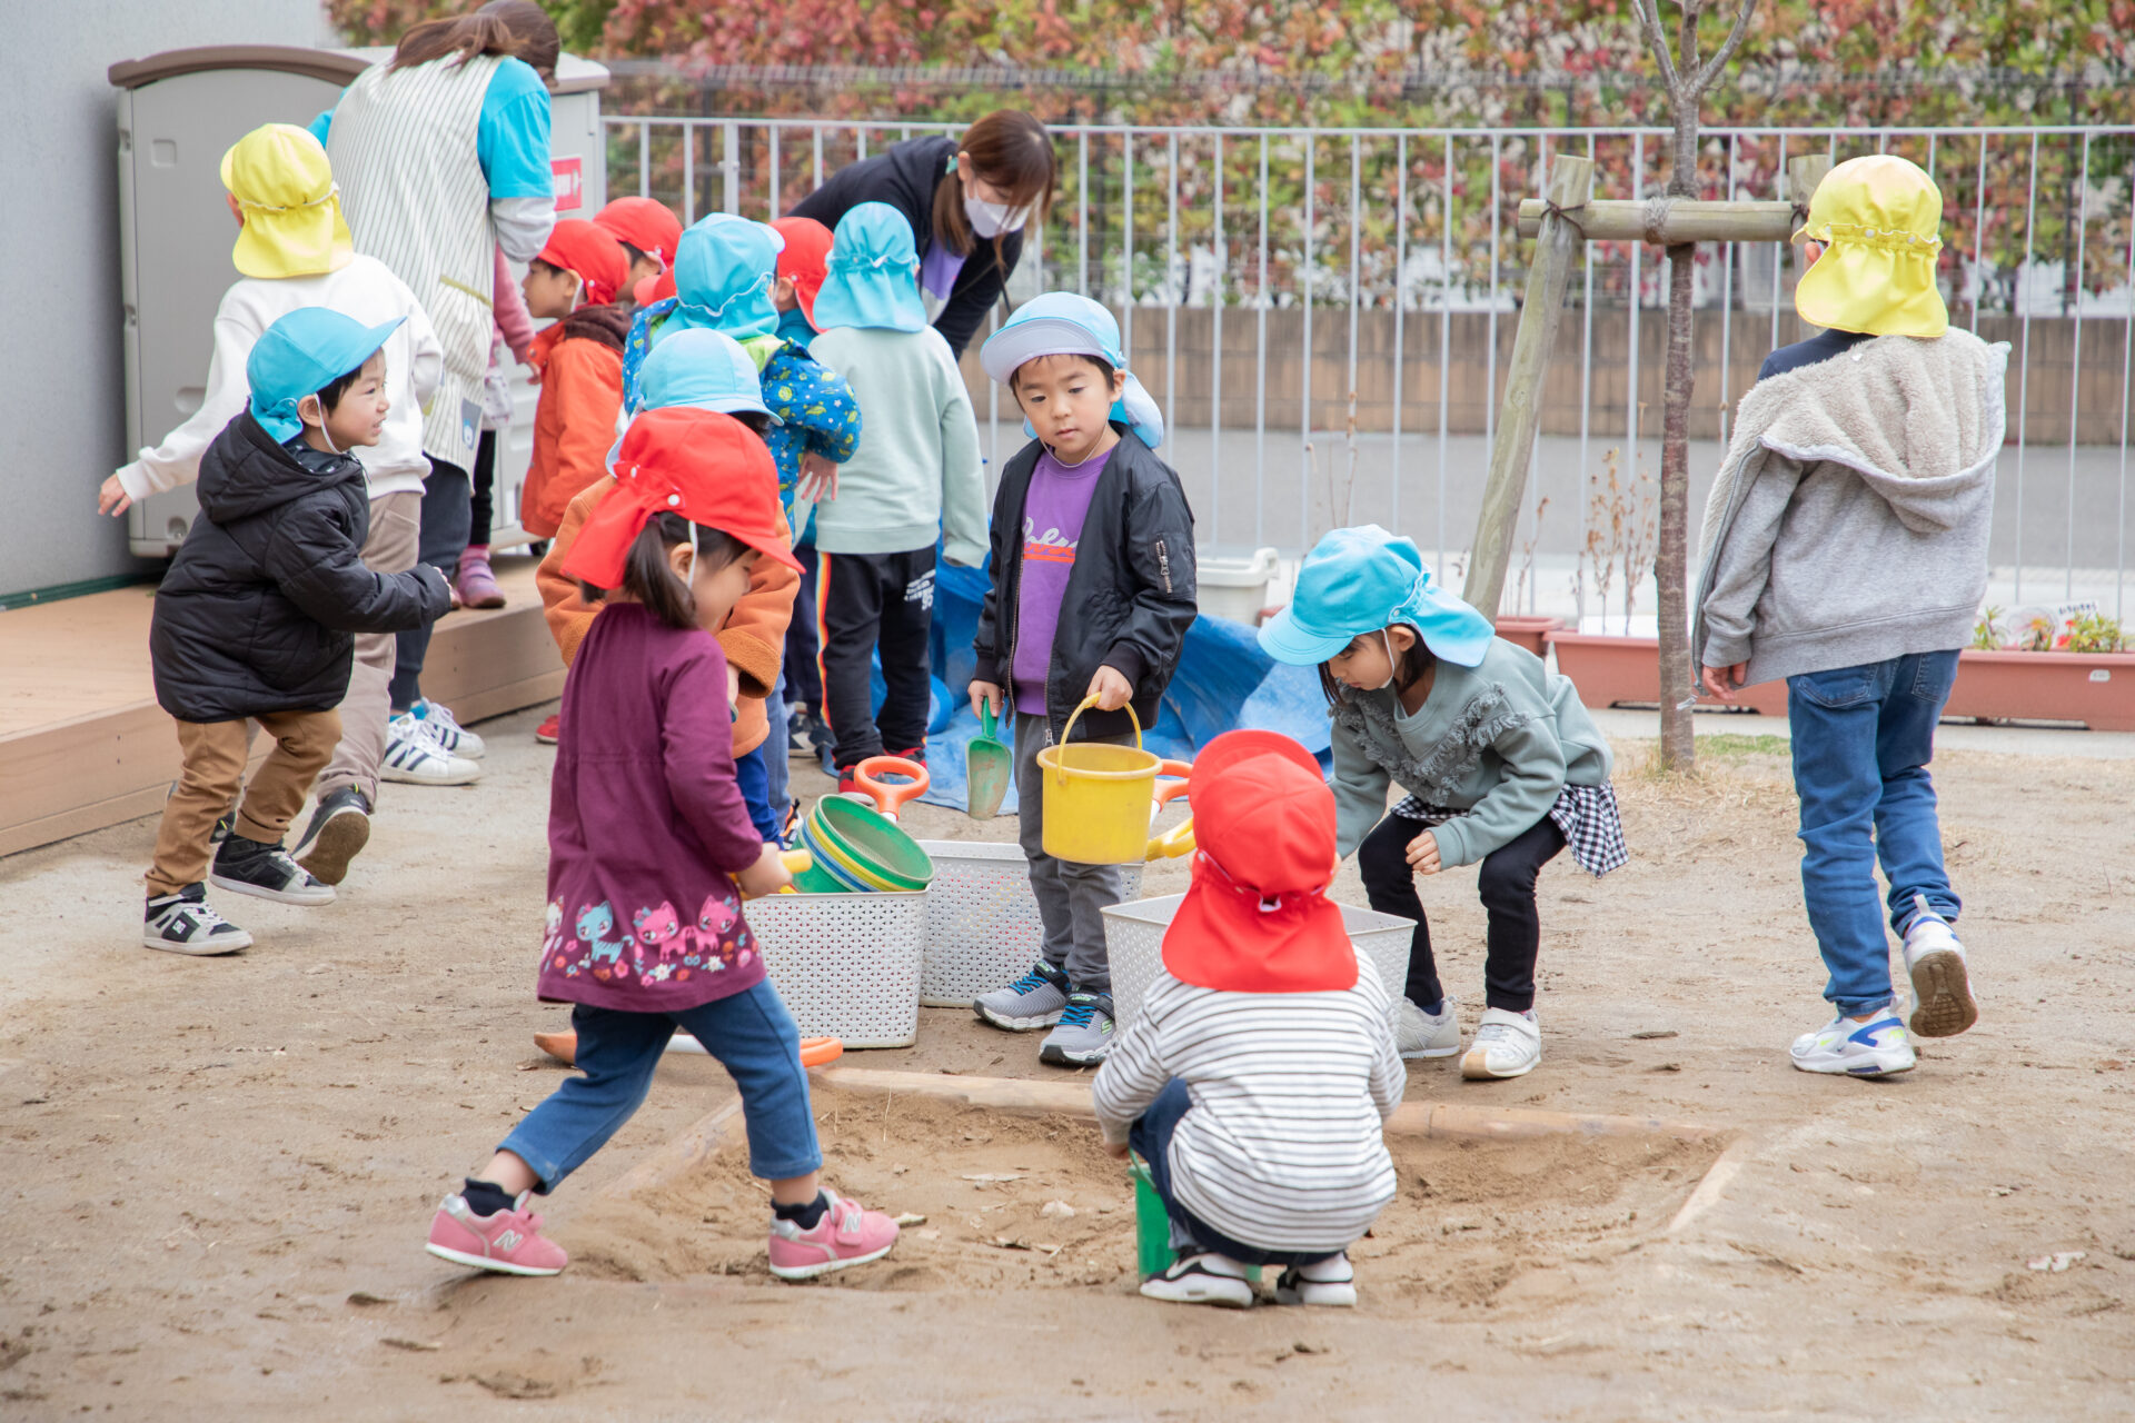
[(252, 412), (201, 457), (201, 518), (156, 589), (156, 700), (179, 721), (327, 710), (348, 693), (357, 631), (418, 627), (450, 608), (444, 574), (363, 565), (363, 465), (314, 474)]

